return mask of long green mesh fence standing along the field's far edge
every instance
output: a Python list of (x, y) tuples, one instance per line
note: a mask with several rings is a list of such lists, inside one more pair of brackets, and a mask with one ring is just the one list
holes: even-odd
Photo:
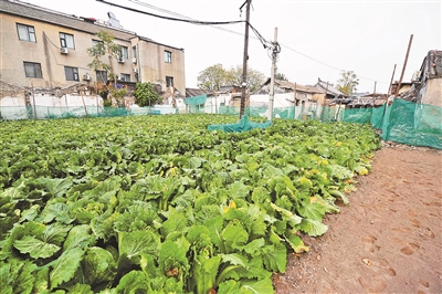
[[(187, 104), (188, 113), (211, 113), (240, 115), (235, 106), (204, 106), (199, 104), (204, 97)], [(0, 106), (0, 119), (53, 119), (70, 117), (113, 117), (128, 115), (159, 115), (161, 111), (154, 107), (102, 107), (102, 106)], [(266, 107), (245, 107), (249, 117), (266, 117)], [(35, 117), (36, 116), (36, 117)], [(442, 108), (424, 104), (415, 104), (403, 99), (394, 99), (389, 106), (378, 108), (339, 108), (323, 106), (318, 112), (313, 108), (292, 106), (274, 108), (274, 118), (318, 119), (328, 122), (347, 122), (371, 124), (382, 130), (382, 138), (413, 146), (429, 146), (442, 149)]]

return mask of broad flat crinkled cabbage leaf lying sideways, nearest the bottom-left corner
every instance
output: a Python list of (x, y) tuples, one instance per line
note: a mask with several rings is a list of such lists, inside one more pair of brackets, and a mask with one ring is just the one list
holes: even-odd
[(34, 237), (25, 235), (13, 244), (21, 253), (29, 253), (33, 259), (48, 259), (60, 250), (60, 246), (43, 242)]

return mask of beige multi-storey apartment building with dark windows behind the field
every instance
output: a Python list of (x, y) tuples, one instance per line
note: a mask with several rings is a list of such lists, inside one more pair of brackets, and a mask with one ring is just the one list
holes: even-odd
[(56, 88), (107, 82), (87, 64), (87, 49), (106, 31), (120, 45), (112, 63), (122, 82), (151, 82), (185, 95), (183, 49), (123, 30), (115, 15), (108, 21), (69, 15), (18, 0), (0, 0), (0, 81), (22, 87)]

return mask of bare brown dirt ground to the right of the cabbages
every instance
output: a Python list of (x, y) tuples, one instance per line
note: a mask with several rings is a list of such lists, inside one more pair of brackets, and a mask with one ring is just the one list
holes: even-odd
[(276, 293), (442, 293), (442, 151), (383, 144), (357, 181), (273, 276)]

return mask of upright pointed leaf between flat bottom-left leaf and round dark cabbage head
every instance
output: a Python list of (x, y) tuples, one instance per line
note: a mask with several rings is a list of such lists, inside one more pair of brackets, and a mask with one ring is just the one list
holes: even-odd
[(84, 251), (81, 248), (69, 249), (53, 262), (50, 273), (51, 288), (74, 277), (76, 270), (83, 259)]

